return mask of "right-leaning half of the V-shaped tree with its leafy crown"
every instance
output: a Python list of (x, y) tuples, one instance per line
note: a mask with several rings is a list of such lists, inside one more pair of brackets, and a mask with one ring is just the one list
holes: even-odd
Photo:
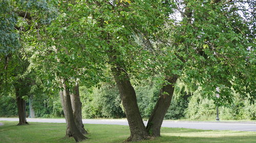
[[(248, 74), (248, 71), (253, 73), (252, 69), (255, 69), (252, 64), (255, 55), (251, 55), (254, 50), (248, 50), (253, 44), (250, 26), (255, 20), (252, 18), (252, 21), (245, 22), (246, 19), (238, 12), (245, 10), (241, 4), (236, 6), (234, 3), (220, 1), (179, 2), (171, 5), (181, 13), (182, 21), (177, 24), (169, 23), (170, 25), (163, 31), (169, 30), (168, 38), (161, 37), (166, 41), (156, 41), (157, 44), (165, 45), (158, 58), (154, 59), (163, 63), (157, 66), (163, 69), (161, 72), (170, 84), (169, 91), (166, 91), (170, 97), (164, 100), (168, 104), (165, 104), (163, 109), (161, 108), (163, 103), (158, 104), (162, 99), (162, 96), (159, 96), (148, 121), (147, 129), (154, 136), (160, 135), (163, 116), (172, 99), (174, 88), (172, 84), (175, 84), (176, 80), (168, 81), (169, 77), (174, 79), (179, 77), (194, 90), (198, 86), (203, 87), (203, 94), (215, 99), (216, 104), (230, 104), (233, 99), (231, 88), (234, 87), (236, 92), (249, 96), (251, 101), (255, 99), (253, 96), (255, 86), (252, 85), (254, 81), (251, 80), (253, 76)], [(244, 16), (250, 17), (246, 14)], [(251, 62), (248, 60), (248, 55)], [(247, 81), (243, 80), (245, 78)], [(163, 86), (161, 91), (164, 91), (165, 87)], [(221, 92), (216, 90), (219, 87)], [(212, 96), (215, 93), (221, 94), (221, 98)], [(156, 111), (158, 108), (161, 110)]]

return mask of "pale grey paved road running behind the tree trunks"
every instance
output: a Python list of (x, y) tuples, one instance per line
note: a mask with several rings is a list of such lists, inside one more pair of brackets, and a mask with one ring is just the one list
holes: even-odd
[[(28, 118), (28, 122), (42, 123), (66, 123), (65, 119), (40, 119)], [(0, 121), (18, 121), (18, 118), (0, 118)], [(112, 119), (83, 119), (84, 124), (111, 124), (128, 125), (127, 120)], [(146, 122), (144, 122), (146, 125)], [(189, 121), (164, 121), (162, 127), (190, 128), (203, 130), (234, 130), (234, 131), (256, 131), (256, 122), (189, 122)]]

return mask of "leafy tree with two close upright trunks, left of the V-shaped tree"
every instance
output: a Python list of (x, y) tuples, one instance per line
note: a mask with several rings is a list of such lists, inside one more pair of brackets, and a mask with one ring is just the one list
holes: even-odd
[[(102, 79), (99, 71), (104, 65), (99, 59), (100, 50), (83, 38), (88, 32), (77, 23), (79, 16), (84, 14), (83, 5), (60, 2), (58, 10), (58, 16), (51, 24), (42, 27), (41, 44), (38, 49), (34, 49), (31, 60), (47, 90), (61, 90), (67, 121), (66, 136), (81, 141), (86, 139), (82, 135), (86, 131), (81, 121), (78, 83), (88, 88), (97, 84)], [(77, 31), (78, 28), (80, 31)]]

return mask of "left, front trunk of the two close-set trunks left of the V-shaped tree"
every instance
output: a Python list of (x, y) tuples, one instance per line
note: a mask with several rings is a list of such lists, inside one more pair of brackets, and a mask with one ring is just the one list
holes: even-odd
[(63, 85), (63, 99), (64, 99), (64, 106), (66, 109), (66, 122), (68, 124), (69, 130), (76, 140), (76, 142), (82, 141), (86, 139), (85, 137), (76, 127), (74, 116), (73, 116), (73, 110), (72, 110), (72, 104), (70, 99), (70, 93), (69, 89), (66, 87), (65, 79), (61, 79), (62, 85)]

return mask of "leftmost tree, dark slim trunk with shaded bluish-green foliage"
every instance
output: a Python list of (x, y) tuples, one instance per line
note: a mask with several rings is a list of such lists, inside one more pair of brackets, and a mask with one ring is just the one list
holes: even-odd
[[(17, 23), (13, 6), (8, 1), (3, 1), (1, 5), (1, 94), (8, 94), (12, 88), (15, 90), (16, 103), (18, 108), (18, 125), (26, 125), (26, 102), (24, 96), (28, 96), (31, 82), (24, 73), (28, 67), (27, 60), (20, 59), (20, 42), (18, 32), (14, 27)], [(16, 54), (14, 52), (17, 52)], [(3, 58), (3, 59), (2, 59)], [(2, 62), (4, 64), (2, 64)], [(4, 68), (2, 68), (2, 66)], [(2, 70), (1, 70), (2, 71)], [(13, 86), (13, 87), (12, 87)], [(3, 88), (2, 88), (3, 87)]]

